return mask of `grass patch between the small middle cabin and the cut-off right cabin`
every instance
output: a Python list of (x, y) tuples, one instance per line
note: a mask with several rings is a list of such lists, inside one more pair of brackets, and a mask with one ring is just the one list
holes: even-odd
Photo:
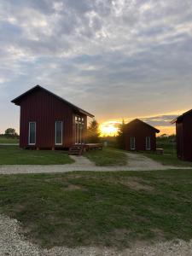
[(164, 148), (164, 154), (153, 152), (145, 152), (144, 154), (165, 166), (192, 167), (192, 162), (177, 159), (176, 148), (173, 148), (172, 145), (162, 145), (162, 147), (158, 146), (158, 148)]

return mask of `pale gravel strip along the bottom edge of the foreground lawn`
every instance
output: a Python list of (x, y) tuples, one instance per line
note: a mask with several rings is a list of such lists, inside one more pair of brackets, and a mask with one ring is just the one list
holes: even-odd
[(1, 256), (191, 256), (192, 241), (167, 241), (151, 247), (133, 247), (124, 251), (102, 247), (53, 247), (43, 249), (26, 241), (20, 235), (20, 223), (0, 214), (0, 255)]

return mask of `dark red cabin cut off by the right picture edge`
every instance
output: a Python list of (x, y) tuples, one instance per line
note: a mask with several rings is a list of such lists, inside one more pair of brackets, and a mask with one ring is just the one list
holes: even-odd
[(172, 121), (176, 123), (177, 157), (192, 161), (192, 109)]

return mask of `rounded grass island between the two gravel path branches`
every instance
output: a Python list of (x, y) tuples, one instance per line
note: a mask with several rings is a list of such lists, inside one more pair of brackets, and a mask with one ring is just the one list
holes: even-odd
[(84, 153), (84, 156), (95, 162), (96, 166), (125, 166), (127, 164), (127, 155), (113, 148), (90, 150)]

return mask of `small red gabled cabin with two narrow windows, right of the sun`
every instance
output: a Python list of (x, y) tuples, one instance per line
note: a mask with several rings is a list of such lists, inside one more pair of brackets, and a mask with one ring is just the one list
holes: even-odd
[(156, 128), (140, 119), (134, 119), (125, 125), (126, 150), (156, 150)]

